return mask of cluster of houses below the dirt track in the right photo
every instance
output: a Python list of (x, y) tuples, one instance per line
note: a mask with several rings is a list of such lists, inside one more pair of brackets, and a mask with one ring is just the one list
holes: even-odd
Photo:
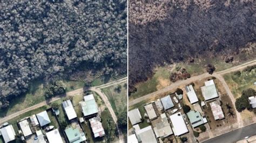
[[(194, 91), (192, 85), (186, 86), (185, 90), (188, 100), (190, 101), (191, 104), (196, 104), (199, 102), (196, 91)], [(216, 100), (212, 102), (213, 99), (219, 97), (214, 81), (206, 81), (205, 85), (201, 87), (201, 91), (203, 97), (205, 98), (205, 101), (211, 101), (210, 106), (212, 109), (214, 119), (218, 120), (225, 118), (219, 101)], [(183, 99), (183, 95), (176, 94), (176, 96), (178, 99)], [(174, 103), (170, 95), (157, 99), (154, 103), (156, 104), (156, 108), (158, 111), (169, 110), (174, 107)], [(205, 102), (201, 103), (205, 105)], [(154, 120), (158, 118), (152, 103), (145, 105), (144, 108), (146, 110), (149, 120)], [(191, 110), (190, 112), (186, 113), (186, 115), (193, 128), (196, 128), (200, 125), (207, 123), (206, 117), (204, 115), (202, 116), (199, 111)], [(171, 126), (166, 116), (166, 113), (162, 113), (160, 115), (161, 121), (156, 123), (156, 125), (154, 125), (155, 127), (152, 128), (152, 126), (147, 126), (145, 128), (140, 129), (138, 124), (142, 121), (142, 116), (140, 115), (139, 109), (133, 109), (129, 111), (129, 119), (136, 130), (136, 134), (132, 134), (129, 136), (129, 142), (130, 140), (133, 140), (134, 142), (157, 142), (157, 138), (165, 138), (172, 134), (176, 136), (186, 134), (188, 132), (188, 124), (186, 123), (184, 116), (185, 115), (182, 115), (181, 112), (172, 113), (172, 115), (169, 116), (170, 123), (172, 124)]]

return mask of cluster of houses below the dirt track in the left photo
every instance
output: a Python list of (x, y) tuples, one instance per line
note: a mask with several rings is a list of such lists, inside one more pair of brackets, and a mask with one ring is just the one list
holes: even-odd
[[(75, 109), (73, 108), (72, 102), (70, 100), (64, 101), (62, 102), (62, 106), (68, 120), (71, 121), (72, 124), (76, 123), (77, 114)], [(84, 101), (80, 102), (80, 106), (82, 108), (84, 117), (82, 119), (80, 118), (79, 121), (83, 123), (84, 118), (89, 119), (94, 137), (103, 137), (105, 135), (105, 132), (103, 125), (100, 122), (100, 117), (98, 116), (98, 105), (95, 101), (94, 96), (92, 94), (84, 96)], [(22, 138), (24, 140), (26, 137), (30, 137), (33, 134), (31, 130), (32, 127), (39, 126), (40, 130), (34, 132), (36, 133), (37, 138), (37, 140), (35, 140), (34, 142), (46, 142), (46, 139), (50, 143), (63, 142), (63, 139), (59, 133), (58, 128), (49, 132), (48, 130), (46, 130), (49, 127), (50, 123), (51, 120), (48, 116), (47, 111), (43, 111), (37, 113), (36, 115), (32, 115), (29, 118), (25, 118), (19, 121), (18, 126), (19, 128), (21, 128), (21, 131), (19, 131), (19, 133), (23, 135)], [(86, 137), (83, 130), (79, 127), (79, 124), (75, 125), (76, 126), (71, 126), (65, 128), (64, 130), (69, 142), (85, 141)], [(44, 132), (42, 132), (42, 130), (45, 130), (45, 135)], [(10, 142), (16, 139), (14, 127), (12, 125), (8, 125), (8, 123), (6, 123), (5, 126), (0, 128), (0, 135), (3, 136), (5, 142)]]

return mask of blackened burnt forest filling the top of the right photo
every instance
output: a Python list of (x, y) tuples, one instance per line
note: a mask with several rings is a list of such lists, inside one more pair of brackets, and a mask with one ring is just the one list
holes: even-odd
[[(146, 18), (136, 17), (151, 4), (158, 6), (148, 10)], [(233, 55), (255, 44), (253, 1), (131, 1), (129, 5), (130, 94), (136, 91), (134, 85), (153, 75), (156, 66), (215, 56), (232, 62)], [(157, 17), (158, 9), (164, 17)], [(255, 53), (255, 46), (248, 53)]]

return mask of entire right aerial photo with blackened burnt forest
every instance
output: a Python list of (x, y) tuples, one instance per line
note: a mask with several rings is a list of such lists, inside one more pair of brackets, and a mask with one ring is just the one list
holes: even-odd
[(256, 142), (255, 1), (128, 6), (128, 142)]

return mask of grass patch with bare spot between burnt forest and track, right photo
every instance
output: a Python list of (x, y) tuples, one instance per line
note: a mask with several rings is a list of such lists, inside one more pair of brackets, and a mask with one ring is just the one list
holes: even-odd
[(170, 85), (169, 77), (169, 70), (163, 67), (157, 68), (152, 78), (136, 85), (137, 91), (131, 94), (129, 98), (136, 99)]

